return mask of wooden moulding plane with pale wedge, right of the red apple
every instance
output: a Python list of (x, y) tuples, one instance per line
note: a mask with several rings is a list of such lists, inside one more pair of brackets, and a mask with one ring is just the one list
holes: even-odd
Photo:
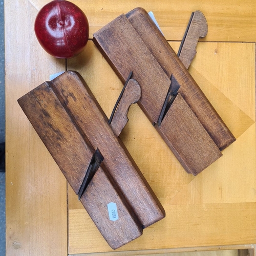
[(220, 158), (221, 151), (236, 140), (187, 71), (199, 37), (206, 34), (206, 19), (196, 11), (179, 58), (148, 13), (136, 8), (105, 25), (93, 38), (122, 81), (134, 71), (141, 87), (138, 104), (193, 175)]

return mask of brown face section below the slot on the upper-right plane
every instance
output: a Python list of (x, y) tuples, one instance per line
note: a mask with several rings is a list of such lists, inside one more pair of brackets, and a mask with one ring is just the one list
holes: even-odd
[(187, 173), (196, 176), (222, 156), (180, 94), (156, 129)]

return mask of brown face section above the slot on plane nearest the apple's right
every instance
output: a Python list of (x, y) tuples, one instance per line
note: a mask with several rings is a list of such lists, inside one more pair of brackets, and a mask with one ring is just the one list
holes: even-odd
[(148, 119), (156, 123), (170, 80), (127, 18), (124, 15), (117, 17), (94, 33), (93, 41), (123, 82), (133, 71), (133, 78), (140, 86), (143, 84), (140, 106)]

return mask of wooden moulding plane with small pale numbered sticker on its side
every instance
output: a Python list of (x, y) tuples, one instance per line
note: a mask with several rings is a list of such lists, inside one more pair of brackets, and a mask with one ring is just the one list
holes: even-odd
[(116, 249), (161, 220), (164, 209), (118, 136), (140, 86), (127, 79), (111, 121), (86, 82), (67, 71), (18, 99), (108, 244)]

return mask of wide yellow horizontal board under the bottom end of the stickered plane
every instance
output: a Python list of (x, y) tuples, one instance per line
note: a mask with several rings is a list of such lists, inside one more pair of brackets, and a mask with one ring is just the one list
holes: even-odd
[[(222, 245), (255, 243), (255, 203), (167, 205), (165, 210), (164, 220), (116, 251), (214, 246), (220, 243), (220, 236)], [(76, 219), (69, 225), (71, 255), (113, 251), (98, 230), (95, 232), (94, 224), (88, 222), (86, 212), (70, 210), (69, 218)], [(246, 222), (250, 225), (244, 225)]]

